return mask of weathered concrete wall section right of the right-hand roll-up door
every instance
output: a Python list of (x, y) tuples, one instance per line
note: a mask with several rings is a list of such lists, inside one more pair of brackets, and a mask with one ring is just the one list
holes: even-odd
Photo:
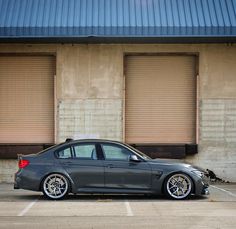
[(199, 154), (190, 158), (219, 177), (236, 181), (236, 46), (200, 53)]

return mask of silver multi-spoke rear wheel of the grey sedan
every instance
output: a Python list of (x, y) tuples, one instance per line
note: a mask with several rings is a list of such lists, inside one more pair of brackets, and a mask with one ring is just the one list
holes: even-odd
[(69, 189), (67, 179), (61, 174), (51, 174), (43, 182), (43, 192), (50, 199), (63, 198)]

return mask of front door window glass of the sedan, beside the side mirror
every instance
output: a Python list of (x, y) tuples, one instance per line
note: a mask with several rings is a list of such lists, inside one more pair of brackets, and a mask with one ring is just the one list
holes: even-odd
[(131, 155), (131, 152), (122, 146), (102, 144), (102, 149), (106, 160), (128, 161)]

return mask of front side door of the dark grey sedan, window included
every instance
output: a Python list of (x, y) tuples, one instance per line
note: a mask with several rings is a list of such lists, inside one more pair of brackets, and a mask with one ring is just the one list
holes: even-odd
[(102, 143), (104, 154), (105, 187), (116, 189), (151, 189), (150, 165), (141, 160), (129, 161), (131, 150), (122, 145)]

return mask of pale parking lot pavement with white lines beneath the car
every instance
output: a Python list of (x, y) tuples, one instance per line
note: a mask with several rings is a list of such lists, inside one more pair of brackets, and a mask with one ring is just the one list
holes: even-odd
[(236, 228), (236, 184), (207, 197), (70, 195), (62, 201), (0, 184), (0, 228)]

